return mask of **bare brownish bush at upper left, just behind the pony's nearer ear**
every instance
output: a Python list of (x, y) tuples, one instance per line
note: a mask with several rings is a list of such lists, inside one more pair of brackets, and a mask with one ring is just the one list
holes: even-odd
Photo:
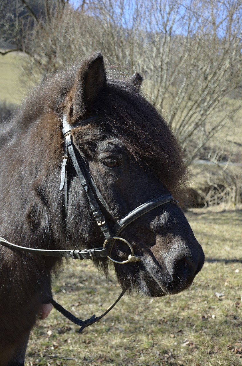
[(31, 53), (29, 70), (37, 68), (44, 76), (100, 47), (95, 37), (86, 37), (95, 27), (84, 11), (74, 10), (67, 1), (46, 0), (45, 14), (34, 19), (28, 42), (23, 42), (23, 51)]

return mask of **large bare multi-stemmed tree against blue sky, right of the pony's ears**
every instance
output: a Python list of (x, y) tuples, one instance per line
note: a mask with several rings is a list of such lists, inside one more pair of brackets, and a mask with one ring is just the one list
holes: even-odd
[(167, 111), (167, 123), (190, 164), (241, 108), (231, 93), (242, 80), (242, 4), (230, 0), (90, 4), (108, 40), (103, 48), (117, 64), (146, 76), (147, 94), (159, 112)]

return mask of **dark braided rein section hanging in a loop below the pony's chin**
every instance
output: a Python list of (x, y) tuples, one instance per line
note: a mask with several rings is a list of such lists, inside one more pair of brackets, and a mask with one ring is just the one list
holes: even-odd
[(66, 317), (67, 319), (69, 319), (72, 323), (77, 324), (77, 325), (80, 325), (81, 328), (78, 330), (78, 333), (82, 333), (82, 331), (83, 331), (84, 328), (87, 328), (89, 325), (92, 325), (92, 324), (96, 323), (97, 321), (99, 321), (100, 319), (102, 319), (107, 313), (109, 313), (109, 311), (113, 309), (113, 307), (122, 298), (122, 296), (125, 294), (126, 291), (127, 291), (127, 289), (125, 288), (121, 292), (121, 294), (118, 296), (117, 300), (113, 303), (112, 306), (109, 307), (109, 309), (107, 309), (105, 311), (105, 313), (103, 313), (99, 317), (96, 317), (95, 314), (94, 314), (94, 315), (92, 315), (90, 318), (88, 318), (86, 320), (81, 320), (81, 319), (75, 317), (75, 315), (73, 315), (68, 310), (66, 310), (63, 306), (61, 306), (60, 304), (58, 304), (54, 299), (52, 299), (52, 297), (48, 296), (48, 300), (49, 300), (50, 303), (52, 303), (52, 305), (54, 306), (54, 308), (56, 310), (60, 311), (60, 313), (62, 315), (64, 315), (64, 317)]

